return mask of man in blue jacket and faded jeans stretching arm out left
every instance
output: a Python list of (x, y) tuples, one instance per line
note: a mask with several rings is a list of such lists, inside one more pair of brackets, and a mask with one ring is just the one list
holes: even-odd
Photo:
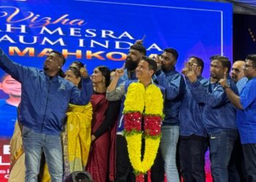
[(26, 181), (36, 182), (42, 151), (51, 181), (63, 181), (63, 159), (60, 132), (69, 103), (86, 105), (93, 87), (87, 71), (80, 70), (82, 90), (58, 74), (65, 63), (61, 53), (52, 51), (44, 70), (12, 62), (0, 49), (0, 68), (21, 83), (18, 121), (23, 125)]

